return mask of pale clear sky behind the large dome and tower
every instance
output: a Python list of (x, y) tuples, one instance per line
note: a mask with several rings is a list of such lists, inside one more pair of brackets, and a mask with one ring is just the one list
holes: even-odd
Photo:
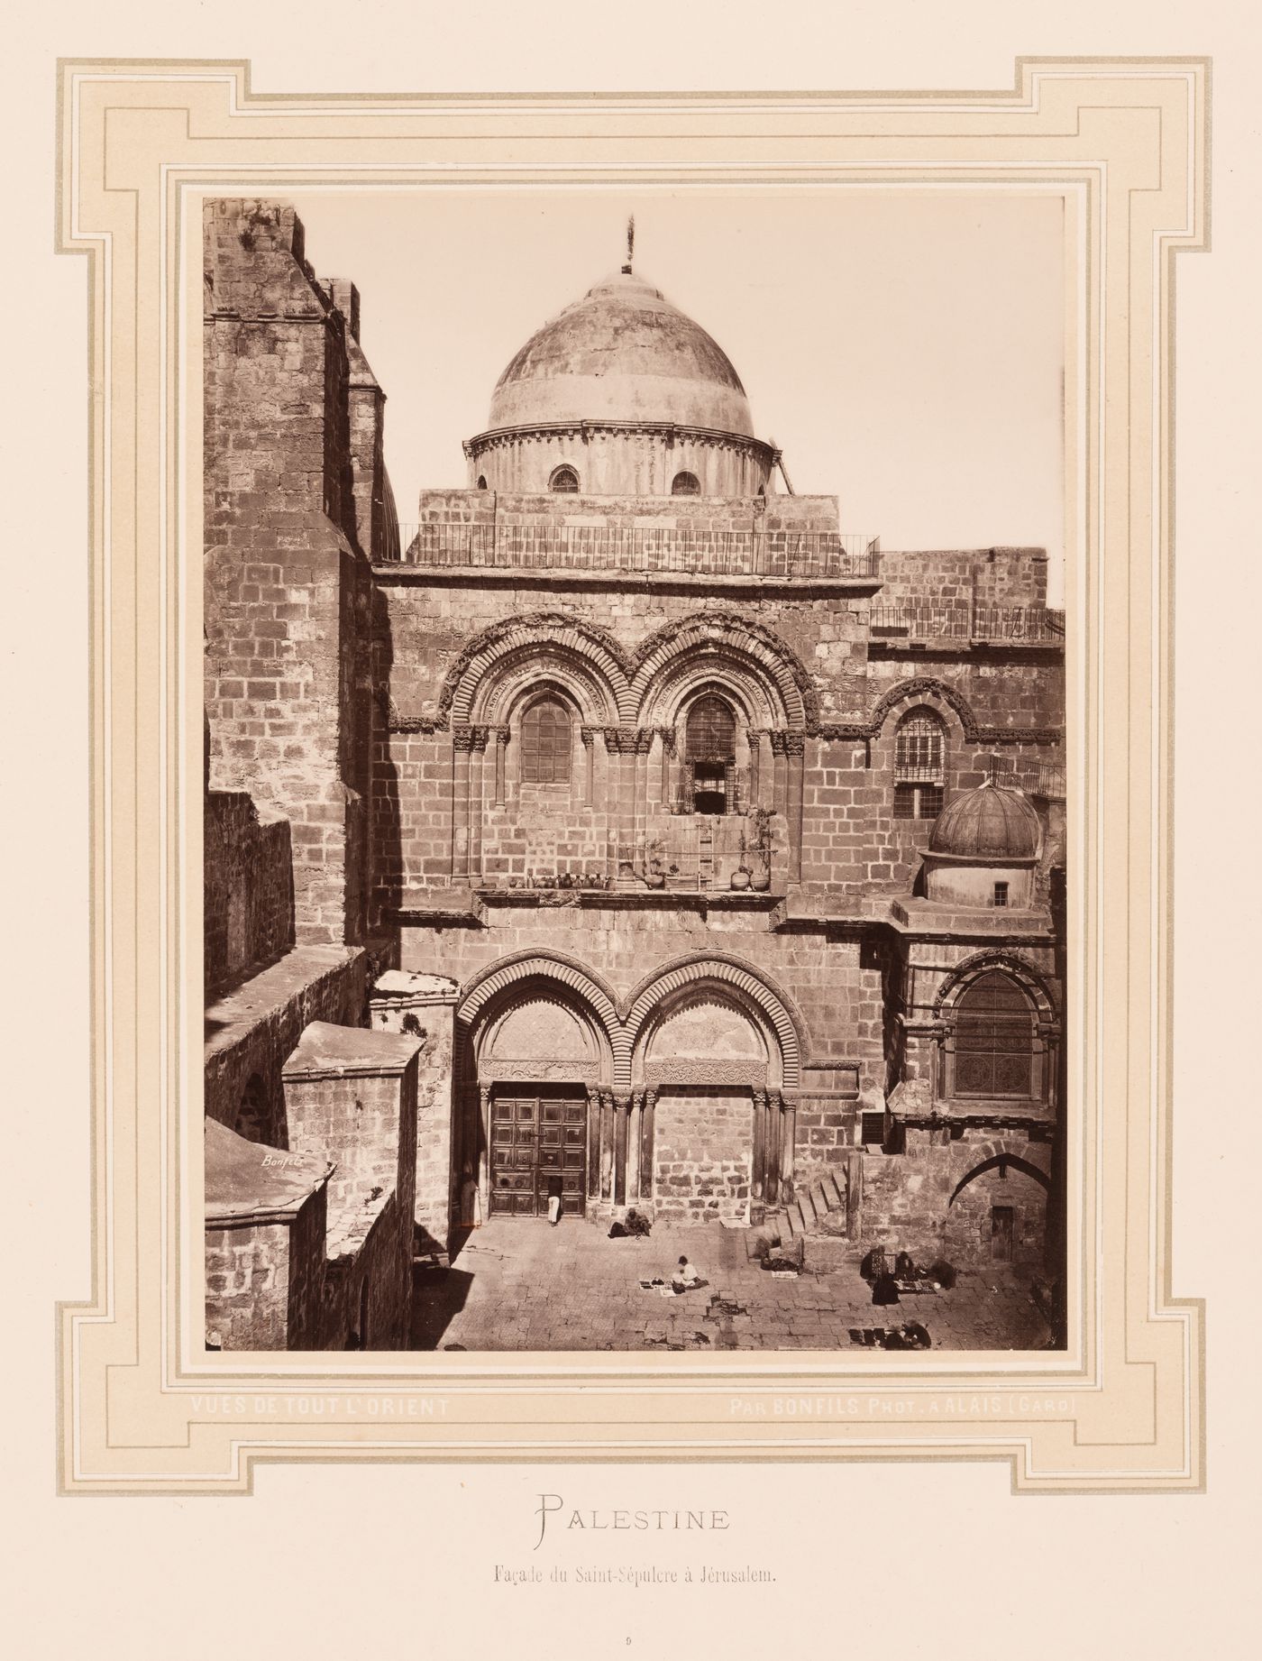
[[(320, 277), (360, 291), (404, 522), (541, 322), (623, 261), (734, 362), (799, 493), (887, 548), (1063, 541), (1054, 196), (863, 189), (294, 193)], [(1054, 588), (1059, 588), (1053, 576)]]

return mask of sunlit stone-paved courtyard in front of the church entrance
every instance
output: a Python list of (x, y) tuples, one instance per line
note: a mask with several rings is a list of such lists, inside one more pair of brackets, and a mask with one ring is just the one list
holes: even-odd
[[(749, 1234), (719, 1224), (654, 1224), (648, 1239), (565, 1219), (492, 1218), (450, 1269), (418, 1269), (412, 1340), (440, 1350), (807, 1350), (870, 1347), (917, 1320), (935, 1349), (1043, 1349), (1049, 1327), (1028, 1276), (1008, 1267), (960, 1272), (950, 1292), (877, 1307), (858, 1274), (862, 1249), (807, 1239), (800, 1276), (782, 1279), (747, 1252)], [(669, 1282), (686, 1254), (709, 1282), (679, 1296)]]

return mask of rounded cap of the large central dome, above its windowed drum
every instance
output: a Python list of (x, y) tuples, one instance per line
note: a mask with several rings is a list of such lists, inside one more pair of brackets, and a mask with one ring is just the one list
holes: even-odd
[(674, 422), (754, 437), (727, 354), (631, 272), (614, 272), (526, 341), (492, 395), (490, 429)]

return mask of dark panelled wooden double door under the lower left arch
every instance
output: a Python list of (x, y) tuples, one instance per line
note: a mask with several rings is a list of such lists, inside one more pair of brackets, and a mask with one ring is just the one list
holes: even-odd
[(561, 1178), (561, 1211), (583, 1216), (588, 1194), (586, 1093), (521, 1085), (492, 1096), (492, 1213), (548, 1214), (548, 1179)]

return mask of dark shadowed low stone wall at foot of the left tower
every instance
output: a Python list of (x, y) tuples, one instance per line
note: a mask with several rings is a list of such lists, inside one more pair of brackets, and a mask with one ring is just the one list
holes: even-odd
[(242, 791), (209, 791), (204, 809), (204, 958), (213, 997), (294, 943), (287, 819), (259, 819)]

